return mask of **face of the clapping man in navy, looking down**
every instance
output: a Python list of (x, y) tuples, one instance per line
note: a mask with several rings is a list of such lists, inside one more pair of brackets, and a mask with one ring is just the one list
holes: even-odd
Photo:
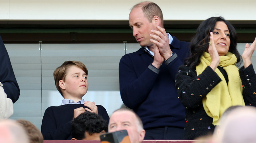
[(133, 36), (139, 42), (140, 46), (152, 46), (153, 43), (150, 41), (152, 34), (151, 30), (157, 30), (154, 21), (151, 23), (144, 16), (141, 8), (133, 8), (129, 14), (129, 24), (133, 29)]

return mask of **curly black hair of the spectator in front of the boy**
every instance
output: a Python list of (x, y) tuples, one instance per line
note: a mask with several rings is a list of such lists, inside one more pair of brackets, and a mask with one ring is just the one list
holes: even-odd
[(108, 131), (108, 123), (100, 116), (91, 112), (84, 112), (72, 121), (72, 138), (82, 140), (86, 138), (85, 132), (89, 135)]

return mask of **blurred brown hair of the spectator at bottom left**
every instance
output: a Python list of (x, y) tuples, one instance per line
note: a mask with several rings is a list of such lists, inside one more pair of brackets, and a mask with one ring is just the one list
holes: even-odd
[(30, 121), (24, 119), (16, 120), (18, 124), (24, 127), (27, 131), (27, 135), (29, 136), (30, 143), (43, 143), (44, 138), (41, 131)]

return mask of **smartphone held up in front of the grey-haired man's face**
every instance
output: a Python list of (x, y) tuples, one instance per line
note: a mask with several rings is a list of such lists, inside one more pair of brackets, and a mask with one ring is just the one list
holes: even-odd
[(100, 135), (101, 143), (130, 143), (127, 130), (116, 131)]

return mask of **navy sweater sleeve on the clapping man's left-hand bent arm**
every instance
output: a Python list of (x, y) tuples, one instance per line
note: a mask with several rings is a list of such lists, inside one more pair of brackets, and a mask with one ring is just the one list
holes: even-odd
[(133, 64), (139, 64), (139, 61), (132, 63), (132, 60), (127, 55), (123, 56), (119, 63), (121, 98), (123, 103), (131, 109), (138, 107), (146, 100), (158, 76), (158, 73), (152, 70), (155, 67), (151, 64), (138, 76)]

